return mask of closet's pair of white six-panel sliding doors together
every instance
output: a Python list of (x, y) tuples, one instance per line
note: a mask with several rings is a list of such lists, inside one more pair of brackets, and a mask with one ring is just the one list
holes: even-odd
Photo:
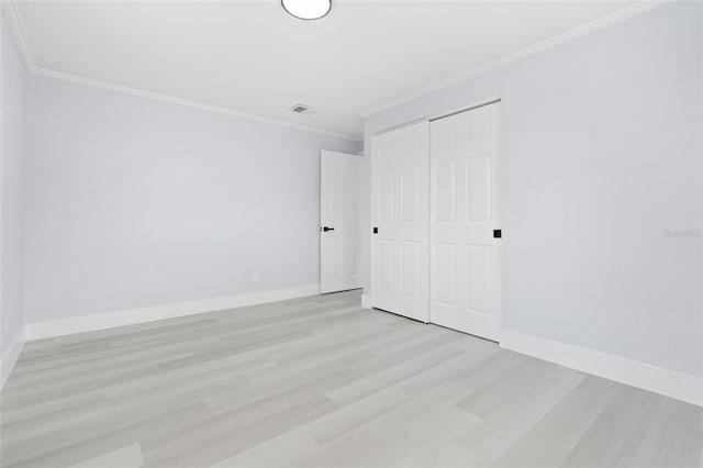
[(498, 341), (500, 102), (371, 142), (375, 308)]

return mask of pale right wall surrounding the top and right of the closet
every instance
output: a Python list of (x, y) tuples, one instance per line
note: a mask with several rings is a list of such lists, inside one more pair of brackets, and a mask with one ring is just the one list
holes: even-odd
[(366, 120), (502, 99), (503, 324), (703, 376), (703, 5), (676, 2)]

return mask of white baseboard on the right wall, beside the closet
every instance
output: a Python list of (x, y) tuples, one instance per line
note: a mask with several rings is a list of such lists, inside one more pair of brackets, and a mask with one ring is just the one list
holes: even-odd
[(503, 330), (501, 347), (703, 406), (703, 377)]

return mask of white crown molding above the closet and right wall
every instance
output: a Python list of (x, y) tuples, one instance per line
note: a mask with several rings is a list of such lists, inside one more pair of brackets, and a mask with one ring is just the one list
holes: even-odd
[(496, 68), (501, 68), (504, 67), (509, 64), (512, 64), (514, 62), (521, 60), (525, 57), (528, 57), (533, 54), (537, 54), (542, 51), (555, 47), (557, 45), (563, 44), (566, 42), (572, 41), (574, 38), (581, 37), (583, 35), (590, 34), (592, 32), (595, 32), (598, 30), (601, 30), (603, 27), (620, 23), (622, 21), (625, 21), (627, 19), (637, 16), (639, 14), (646, 13), (648, 11), (651, 11), (658, 7), (661, 7), (662, 4), (667, 4), (670, 3), (673, 0), (644, 0), (640, 1), (639, 3), (633, 4), (632, 7), (627, 7), (624, 8), (622, 10), (615, 11), (611, 14), (607, 14), (605, 16), (599, 18), (596, 20), (590, 21), (585, 24), (582, 24), (578, 27), (574, 27), (572, 30), (566, 31), (563, 33), (559, 33), (556, 36), (553, 36), (550, 38), (547, 38), (545, 41), (540, 41), (536, 44), (533, 44), (528, 47), (522, 48), (517, 52), (504, 55), (500, 58), (496, 58), (494, 60), (491, 60), (489, 63), (486, 63), (483, 65), (479, 65), (476, 66), (473, 68), (469, 68), (468, 70), (465, 70), (458, 75), (454, 75), (449, 78), (439, 80), (433, 85), (416, 89), (415, 91), (411, 91), (406, 94), (400, 96), (395, 99), (392, 99), (390, 101), (387, 101), (380, 105), (377, 105), (375, 108), (368, 109), (364, 112), (361, 112), (361, 116), (364, 119), (367, 119), (373, 114), (377, 114), (379, 112), (382, 112), (384, 110), (388, 110), (390, 108), (393, 108), (395, 105), (400, 105), (403, 104), (405, 102), (412, 101), (414, 99), (417, 99), (420, 97), (423, 97), (425, 94), (429, 94), (431, 92), (437, 91), (439, 89), (444, 89), (447, 88), (451, 85), (456, 85), (460, 81), (467, 80), (469, 78), (473, 78), (478, 75), (482, 75), (486, 74), (488, 71), (494, 70)]

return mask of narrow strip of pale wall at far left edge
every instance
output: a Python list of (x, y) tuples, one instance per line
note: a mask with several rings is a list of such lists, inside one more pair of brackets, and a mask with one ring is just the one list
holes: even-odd
[(24, 91), (26, 70), (0, 9), (0, 355), (24, 324), (22, 314)]

